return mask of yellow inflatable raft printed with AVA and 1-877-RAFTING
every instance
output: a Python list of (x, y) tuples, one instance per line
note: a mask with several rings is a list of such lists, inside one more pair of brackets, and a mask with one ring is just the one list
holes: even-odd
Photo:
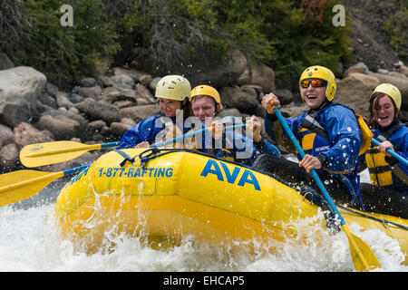
[[(112, 225), (131, 236), (194, 235), (218, 245), (283, 241), (296, 237), (294, 220), (315, 217), (321, 208), (327, 209), (325, 200), (313, 189), (296, 189), (261, 170), (196, 151), (130, 149), (102, 155), (69, 181), (55, 213), (63, 236), (92, 251)], [(380, 229), (408, 253), (408, 220), (339, 210), (347, 224)], [(329, 216), (317, 222), (335, 228)]]

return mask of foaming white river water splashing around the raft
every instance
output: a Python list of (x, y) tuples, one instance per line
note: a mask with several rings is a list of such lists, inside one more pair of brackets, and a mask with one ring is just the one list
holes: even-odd
[[(116, 247), (110, 253), (92, 255), (74, 250), (70, 241), (61, 239), (53, 223), (55, 199), (64, 182), (58, 179), (33, 198), (0, 208), (0, 271), (23, 272), (351, 272), (355, 271), (344, 233), (326, 233), (325, 245), (317, 246), (314, 231), (298, 229), (308, 238), (307, 246), (287, 241), (274, 245), (271, 254), (259, 249), (254, 254), (194, 243), (186, 237), (180, 245), (152, 249), (138, 238), (112, 237)], [(318, 218), (318, 217), (317, 217)], [(320, 217), (321, 218), (321, 217)], [(377, 230), (352, 231), (374, 250), (383, 268), (376, 271), (408, 272), (402, 266), (403, 253), (398, 243)]]

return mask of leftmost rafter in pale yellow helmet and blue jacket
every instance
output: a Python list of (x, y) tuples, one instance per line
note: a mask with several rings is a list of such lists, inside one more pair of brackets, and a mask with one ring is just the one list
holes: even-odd
[[(157, 141), (156, 137), (160, 136), (159, 132), (163, 132), (167, 123), (176, 125), (172, 126), (174, 130), (170, 129), (168, 132), (171, 135), (170, 138), (176, 137), (172, 135), (175, 135), (177, 130), (182, 130), (181, 134), (189, 131), (189, 128), (183, 126), (190, 111), (191, 86), (189, 81), (180, 75), (167, 75), (157, 83), (155, 97), (159, 99), (160, 111), (126, 131), (119, 141), (118, 150), (150, 147)], [(182, 113), (180, 123), (176, 118), (178, 112)]]

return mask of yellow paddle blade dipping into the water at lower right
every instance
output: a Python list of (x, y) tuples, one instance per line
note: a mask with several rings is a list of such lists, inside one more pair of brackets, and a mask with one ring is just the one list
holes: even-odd
[(347, 225), (342, 226), (350, 245), (350, 253), (358, 272), (367, 272), (381, 268), (373, 250), (360, 237), (355, 236)]

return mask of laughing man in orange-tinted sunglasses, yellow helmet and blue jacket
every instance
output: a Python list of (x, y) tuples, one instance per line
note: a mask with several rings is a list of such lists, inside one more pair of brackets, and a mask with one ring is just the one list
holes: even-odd
[[(286, 121), (306, 156), (298, 164), (287, 160), (284, 174), (296, 176), (299, 182), (306, 182), (317, 189), (310, 175), (299, 174), (298, 167), (303, 167), (307, 172), (316, 169), (336, 202), (364, 208), (358, 175), (362, 135), (355, 112), (333, 102), (335, 89), (335, 74), (323, 66), (308, 67), (300, 76), (300, 96), (310, 110)], [(267, 94), (262, 105), (267, 110), (267, 134), (277, 144), (294, 151), (273, 111), (275, 106), (280, 105), (277, 96)]]

